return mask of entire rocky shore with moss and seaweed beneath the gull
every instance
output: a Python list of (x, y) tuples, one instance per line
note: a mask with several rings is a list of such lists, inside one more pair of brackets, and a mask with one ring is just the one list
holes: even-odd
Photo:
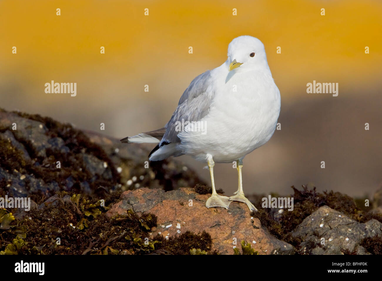
[(30, 211), (0, 208), (0, 254), (233, 254), (242, 241), (259, 254), (382, 254), (382, 189), (370, 207), (303, 185), (293, 211), (258, 194), (257, 213), (207, 209), (210, 187), (180, 159), (149, 162), (150, 148), (0, 109), (0, 197), (31, 198)]

